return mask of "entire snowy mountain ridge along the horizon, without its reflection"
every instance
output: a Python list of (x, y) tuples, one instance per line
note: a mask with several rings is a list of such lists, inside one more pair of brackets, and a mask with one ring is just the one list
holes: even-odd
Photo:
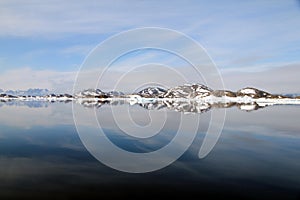
[[(2, 92), (1, 92), (2, 91)], [(299, 96), (291, 95), (277, 95), (271, 94), (254, 87), (245, 87), (236, 92), (230, 90), (213, 90), (203, 84), (193, 83), (176, 86), (173, 88), (165, 89), (162, 87), (146, 87), (139, 92), (132, 94), (125, 94), (119, 91), (104, 92), (101, 89), (86, 89), (76, 94), (50, 94), (47, 89), (29, 89), (17, 91), (3, 91), (0, 90), (0, 98), (10, 99), (54, 99), (54, 98), (68, 98), (68, 99), (107, 99), (107, 98), (166, 98), (166, 99), (193, 99), (201, 100), (208, 98), (244, 98), (244, 99), (300, 99)], [(29, 94), (26, 94), (29, 93)]]

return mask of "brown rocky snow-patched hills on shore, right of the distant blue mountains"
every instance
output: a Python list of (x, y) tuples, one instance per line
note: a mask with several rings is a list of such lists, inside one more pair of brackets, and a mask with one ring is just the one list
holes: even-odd
[(291, 97), (284, 95), (274, 95), (263, 90), (252, 87), (246, 87), (233, 92), (230, 90), (212, 90), (202, 84), (184, 84), (170, 89), (160, 87), (147, 87), (133, 94), (125, 95), (122, 92), (110, 91), (104, 92), (100, 89), (88, 89), (75, 94), (76, 98), (136, 98), (136, 99), (192, 99), (192, 100), (212, 100), (226, 99), (227, 101), (251, 101), (251, 99), (296, 99), (300, 97)]

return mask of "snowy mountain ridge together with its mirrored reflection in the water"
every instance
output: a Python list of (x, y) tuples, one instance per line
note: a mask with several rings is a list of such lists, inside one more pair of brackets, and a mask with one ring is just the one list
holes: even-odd
[(0, 93), (0, 102), (11, 101), (72, 101), (87, 107), (100, 107), (103, 104), (136, 104), (150, 110), (168, 108), (180, 112), (196, 113), (205, 112), (211, 108), (232, 106), (237, 106), (241, 110), (252, 111), (269, 105), (300, 105), (300, 97), (295, 95), (274, 95), (253, 87), (246, 87), (237, 92), (212, 90), (202, 84), (184, 84), (170, 89), (148, 87), (133, 94), (124, 94), (118, 91), (104, 92), (100, 89), (87, 89), (75, 95), (50, 94), (48, 90), (44, 89)]

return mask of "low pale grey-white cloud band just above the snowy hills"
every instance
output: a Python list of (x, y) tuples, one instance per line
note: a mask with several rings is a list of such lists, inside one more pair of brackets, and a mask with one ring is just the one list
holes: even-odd
[[(299, 65), (300, 63), (295, 63), (252, 72), (223, 70), (221, 74), (225, 88), (233, 91), (252, 86), (270, 93), (300, 93)], [(100, 75), (99, 72), (101, 70), (83, 71), (80, 75), (80, 82), (78, 82), (80, 85), (76, 88), (79, 90), (94, 88)], [(47, 88), (58, 93), (72, 93), (76, 75), (77, 71), (58, 72), (30, 68), (10, 70), (0, 74), (0, 88), (4, 90)], [(149, 64), (133, 66), (128, 73), (108, 70), (97, 87), (104, 91), (117, 89), (132, 92), (142, 85), (158, 84), (173, 87), (189, 81), (205, 84), (198, 75), (195, 75), (195, 71), (191, 67), (172, 69), (164, 65)]]

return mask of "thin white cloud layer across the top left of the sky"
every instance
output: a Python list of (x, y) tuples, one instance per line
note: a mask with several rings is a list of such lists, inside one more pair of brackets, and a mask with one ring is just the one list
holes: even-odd
[[(154, 8), (161, 14), (153, 14)], [(163, 12), (165, 8), (157, 6), (157, 2), (144, 1), (1, 1), (0, 34), (49, 36), (55, 33), (115, 32), (145, 23), (154, 25), (161, 17), (176, 17), (180, 9)]]

